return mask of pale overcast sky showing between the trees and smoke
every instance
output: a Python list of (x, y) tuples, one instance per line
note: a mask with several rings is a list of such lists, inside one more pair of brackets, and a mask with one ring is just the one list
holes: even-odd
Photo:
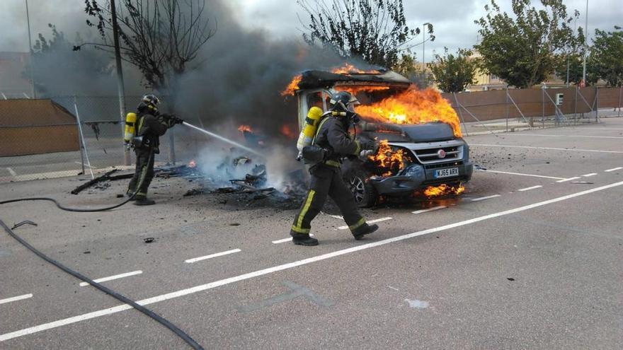
[[(25, 0), (0, 0), (0, 51), (28, 51)], [(195, 1), (195, 0), (191, 0)], [(313, 0), (310, 0), (310, 2)], [(295, 0), (228, 0), (236, 9), (239, 21), (248, 28), (259, 28), (275, 38), (300, 37), (303, 25), (297, 13), (307, 20)], [(451, 50), (457, 47), (471, 47), (476, 43), (477, 27), (474, 19), (484, 15), (488, 0), (404, 0), (406, 18), (415, 27), (422, 23), (433, 23), (437, 40), (426, 42), (425, 59), (430, 61), (433, 52), (442, 52), (443, 47)], [(536, 3), (537, 1), (533, 1)], [(584, 26), (585, 0), (564, 0), (568, 12), (581, 12), (578, 25)], [(84, 25), (86, 15), (84, 0), (28, 0), (30, 26), (34, 40), (38, 33), (47, 34), (47, 23), (55, 23), (59, 30), (73, 40), (76, 31), (88, 37)], [(210, 0), (207, 0), (209, 6)], [(510, 11), (510, 0), (498, 0), (506, 11)], [(612, 30), (613, 25), (623, 25), (623, 0), (590, 0), (588, 4), (588, 28)], [(218, 35), (218, 33), (217, 33)], [(418, 60), (422, 47), (414, 48)]]

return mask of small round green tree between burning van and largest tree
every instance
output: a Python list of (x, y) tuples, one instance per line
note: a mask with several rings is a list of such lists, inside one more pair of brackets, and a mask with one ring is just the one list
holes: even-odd
[(433, 81), (442, 91), (458, 93), (476, 82), (474, 77), (478, 63), (476, 59), (469, 58), (471, 51), (458, 49), (457, 54), (449, 54), (447, 47), (444, 47), (444, 52), (443, 56), (435, 54), (433, 62), (428, 64), (433, 72)]

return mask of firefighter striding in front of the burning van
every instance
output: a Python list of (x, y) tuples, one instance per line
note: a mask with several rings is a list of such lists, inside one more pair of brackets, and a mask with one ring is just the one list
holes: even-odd
[(374, 141), (353, 140), (348, 134), (350, 124), (357, 122), (358, 118), (353, 109), (355, 104), (358, 104), (358, 100), (350, 93), (336, 93), (331, 98), (331, 111), (325, 113), (321, 119), (313, 144), (324, 148), (326, 156), (323, 161), (309, 168), (309, 192), (290, 231), (295, 245), (318, 245), (316, 238), (309, 237), (309, 231), (311, 221), (321, 211), (327, 195), (338, 205), (355, 240), (360, 240), (379, 228), (377, 225), (368, 225), (359, 214), (353, 193), (342, 180), (340, 170), (342, 158), (356, 156), (360, 151), (375, 148)]

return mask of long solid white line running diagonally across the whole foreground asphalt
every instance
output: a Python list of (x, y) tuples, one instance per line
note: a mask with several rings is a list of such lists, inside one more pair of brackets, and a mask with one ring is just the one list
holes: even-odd
[[(476, 218), (470, 218), (468, 220), (464, 220), (464, 221), (459, 221), (457, 223), (450, 223), (444, 226), (438, 226), (435, 228), (428, 228), (427, 230), (423, 230), (423, 231), (416, 231), (413, 233), (408, 233), (406, 235), (399, 235), (396, 237), (392, 237), (392, 238), (387, 238), (385, 240), (379, 240), (377, 242), (371, 242), (371, 243), (366, 243), (366, 244), (362, 244), (362, 245), (355, 245), (354, 247), (350, 247), (350, 248), (346, 248), (343, 250), (336, 250), (335, 252), (328, 252), (326, 254), (323, 255), (316, 255), (315, 257), (308, 257), (307, 259), (302, 259), (302, 260), (297, 260), (295, 262), (289, 262), (287, 264), (281, 264), (278, 266), (273, 266), (273, 267), (268, 267), (266, 269), (261, 269), (261, 270), (257, 270), (254, 272), (248, 272), (246, 274), (241, 274), (238, 276), (233, 276), (233, 277), (229, 277), (227, 279), (221, 279), (219, 281), (214, 281), (214, 282), (210, 282), (207, 284), (200, 284), (199, 286), (194, 286), (191, 288), (185, 288), (185, 289), (181, 289), (179, 291), (174, 291), (171, 293), (166, 293), (166, 294), (161, 294), (159, 296), (154, 296), (152, 298), (147, 298), (147, 299), (143, 299), (142, 301), (137, 301), (137, 303), (139, 305), (149, 305), (149, 304), (153, 304), (153, 303), (159, 303), (161, 301), (167, 301), (173, 298), (179, 298), (181, 296), (188, 296), (190, 294), (193, 293), (198, 293), (201, 291), (207, 291), (209, 289), (213, 289), (213, 288), (217, 288), (219, 286), (226, 286), (228, 284), (234, 284), (236, 282), (239, 281), (245, 281), (247, 279), (253, 279), (255, 277), (258, 276), (264, 276), (267, 274), (273, 274), (275, 272), (280, 272), (280, 271), (284, 271), (287, 269), (293, 269), (295, 267), (299, 267), (299, 266), (303, 266), (303, 265), (307, 265), (307, 264), (311, 264), (312, 262), (319, 262), (322, 260), (326, 260), (326, 259), (331, 259), (333, 257), (339, 257), (341, 255), (346, 255), (346, 254), (350, 254), (353, 252), (359, 252), (360, 250), (366, 250), (366, 249), (370, 249), (372, 247), (379, 247), (382, 245), (387, 245), (389, 243), (395, 243), (395, 242), (400, 242), (402, 240), (408, 240), (411, 238), (415, 238), (421, 235), (428, 235), (429, 233), (435, 233), (435, 232), (440, 232), (440, 231), (446, 231), (446, 230), (450, 230), (452, 228), (457, 228), (460, 226), (466, 226), (466, 225), (470, 225), (471, 223), (477, 223), (480, 221), (485, 221), (491, 218), (498, 218), (500, 216), (505, 216), (505, 215), (509, 215), (509, 214), (515, 214), (518, 213), (520, 211), (527, 211), (530, 209), (534, 209), (534, 208), (538, 208), (539, 206), (545, 206), (548, 204), (553, 204), (553, 203), (558, 203), (558, 202), (563, 202), (566, 201), (567, 199), (573, 199), (576, 197), (581, 197), (584, 196), (586, 194), (591, 194), (594, 192), (600, 192), (603, 191), (605, 189), (610, 189), (612, 187), (618, 187), (623, 185), (623, 181), (621, 182), (615, 182), (612, 183), (610, 185), (605, 185), (605, 186), (601, 186), (601, 187), (595, 187), (592, 189), (586, 189), (585, 191), (582, 192), (576, 192), (573, 194), (567, 194), (566, 196), (562, 196), (562, 197), (556, 197), (554, 199), (548, 199), (547, 201), (543, 201), (543, 202), (538, 202), (535, 204), (528, 204), (525, 206), (520, 206), (518, 208), (515, 209), (509, 209), (509, 210), (505, 210), (505, 211), (498, 211), (497, 213), (493, 213), (493, 214), (487, 214), (484, 216), (479, 216)], [(77, 316), (73, 316), (73, 317), (67, 317), (64, 318), (62, 320), (57, 320), (57, 321), (53, 321), (53, 322), (47, 322), (47, 323), (43, 323), (41, 325), (37, 325), (37, 326), (33, 326), (33, 327), (28, 327), (28, 328), (24, 328), (24, 329), (19, 329), (17, 331), (14, 332), (9, 332), (9, 333), (5, 333), (5, 334), (0, 334), (0, 342), (4, 342), (8, 339), (13, 339), (13, 338), (17, 338), (17, 337), (23, 337), (25, 335), (28, 334), (33, 334), (33, 333), (37, 333), (37, 332), (42, 332), (46, 329), (52, 329), (52, 328), (56, 328), (56, 327), (62, 327), (64, 325), (71, 325), (72, 323), (76, 323), (76, 322), (81, 322), (84, 320), (91, 320), (92, 318), (96, 318), (96, 317), (101, 317), (101, 316), (105, 316), (105, 315), (111, 315), (113, 313), (119, 313), (123, 310), (130, 310), (132, 307), (130, 305), (127, 304), (122, 304), (122, 305), (117, 305), (117, 306), (113, 306), (112, 308), (105, 308), (102, 310), (97, 310), (97, 311), (93, 311), (91, 313), (85, 313), (82, 315), (77, 315)]]

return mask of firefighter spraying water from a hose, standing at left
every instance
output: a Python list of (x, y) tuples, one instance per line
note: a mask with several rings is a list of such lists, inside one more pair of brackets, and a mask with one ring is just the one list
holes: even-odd
[(134, 176), (127, 187), (128, 196), (136, 192), (136, 205), (156, 204), (152, 199), (147, 199), (147, 189), (154, 178), (154, 155), (160, 153), (160, 136), (175, 124), (183, 122), (173, 115), (160, 114), (159, 104), (160, 100), (156, 95), (147, 94), (137, 107), (134, 142), (137, 163)]

